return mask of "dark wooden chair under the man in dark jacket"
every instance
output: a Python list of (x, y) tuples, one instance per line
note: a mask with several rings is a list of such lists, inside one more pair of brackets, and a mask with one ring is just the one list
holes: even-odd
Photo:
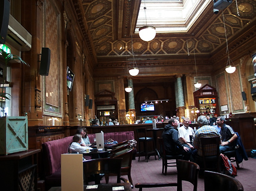
[[(160, 146), (160, 155), (162, 157), (162, 174), (167, 175), (167, 167), (177, 167), (177, 159), (182, 159), (182, 155), (166, 155), (164, 148), (164, 141), (158, 137), (158, 143)], [(168, 162), (168, 160), (175, 160), (174, 162)]]

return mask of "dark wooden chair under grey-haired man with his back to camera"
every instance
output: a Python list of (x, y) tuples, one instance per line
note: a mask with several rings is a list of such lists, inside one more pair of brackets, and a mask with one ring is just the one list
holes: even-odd
[[(219, 144), (221, 143), (221, 138), (217, 137), (200, 137), (201, 146), (202, 146), (202, 157), (196, 158), (197, 161), (203, 162), (203, 170), (212, 170), (218, 171), (220, 167), (220, 156), (219, 156)], [(209, 147), (215, 147), (216, 152), (213, 156), (206, 156), (205, 153)]]

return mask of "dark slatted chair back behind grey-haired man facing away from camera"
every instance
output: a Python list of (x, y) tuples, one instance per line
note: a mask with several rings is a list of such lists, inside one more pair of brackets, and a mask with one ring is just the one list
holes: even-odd
[[(213, 164), (212, 162), (215, 162), (216, 166), (208, 169), (211, 169), (211, 170), (216, 169), (217, 171), (219, 171), (219, 161), (220, 161), (219, 144), (221, 143), (221, 138), (219, 136), (200, 137), (200, 141), (201, 141), (201, 148), (202, 148), (202, 155), (203, 155), (204, 170), (206, 170), (207, 168), (206, 162), (210, 161), (211, 164)], [(213, 152), (212, 156), (207, 155), (207, 152), (209, 152), (209, 150), (215, 151)]]

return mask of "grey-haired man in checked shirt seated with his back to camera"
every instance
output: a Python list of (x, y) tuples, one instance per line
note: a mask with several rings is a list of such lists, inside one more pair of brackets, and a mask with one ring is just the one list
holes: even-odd
[[(197, 122), (198, 122), (199, 128), (197, 131), (195, 131), (195, 138), (193, 142), (195, 150), (192, 151), (191, 158), (190, 158), (191, 159), (190, 161), (195, 163), (198, 162), (196, 161), (197, 157), (203, 156), (200, 137), (220, 136), (220, 134), (218, 133), (215, 127), (208, 125), (208, 120), (206, 116), (199, 116), (197, 118)], [(209, 147), (209, 149), (205, 151), (205, 156), (213, 156), (215, 154), (216, 154), (216, 147), (215, 149), (214, 147), (213, 148)]]

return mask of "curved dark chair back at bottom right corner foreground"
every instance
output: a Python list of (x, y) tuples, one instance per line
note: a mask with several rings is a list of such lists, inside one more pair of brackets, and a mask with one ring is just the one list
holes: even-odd
[(229, 175), (219, 172), (204, 171), (205, 191), (238, 191), (243, 190), (243, 185)]

